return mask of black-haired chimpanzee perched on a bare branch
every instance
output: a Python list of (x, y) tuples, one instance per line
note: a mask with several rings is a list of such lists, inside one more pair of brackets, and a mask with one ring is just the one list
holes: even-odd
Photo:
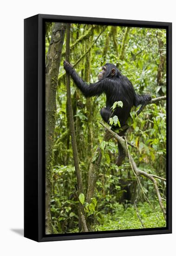
[[(98, 82), (88, 85), (76, 73), (72, 65), (68, 61), (64, 61), (64, 68), (68, 74), (71, 75), (73, 81), (85, 97), (99, 96), (106, 94), (106, 107), (100, 110), (100, 114), (106, 123), (109, 123), (110, 117), (117, 115), (121, 127), (126, 124), (127, 119), (130, 117), (130, 111), (133, 106), (138, 106), (151, 100), (151, 96), (136, 94), (132, 83), (126, 76), (121, 74), (118, 68), (111, 64), (106, 63), (102, 71), (98, 74)], [(115, 101), (122, 101), (123, 107), (115, 108), (112, 113), (112, 105)], [(112, 126), (112, 129), (118, 128), (118, 125)], [(119, 133), (120, 136), (125, 134), (126, 130)], [(125, 154), (122, 146), (118, 143), (119, 155), (117, 158), (117, 165), (120, 166), (124, 160)]]

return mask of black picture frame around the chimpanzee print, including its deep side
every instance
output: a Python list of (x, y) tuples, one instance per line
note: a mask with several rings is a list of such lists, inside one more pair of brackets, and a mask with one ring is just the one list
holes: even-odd
[[(167, 226), (155, 229), (45, 235), (45, 22), (70, 22), (167, 31)], [(24, 236), (38, 242), (172, 232), (172, 23), (38, 14), (24, 20)]]

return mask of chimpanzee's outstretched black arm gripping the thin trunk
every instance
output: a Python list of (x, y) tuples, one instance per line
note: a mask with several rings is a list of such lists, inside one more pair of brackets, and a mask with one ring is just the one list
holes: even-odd
[(96, 83), (88, 85), (74, 70), (70, 63), (64, 61), (64, 68), (68, 74), (71, 75), (73, 81), (85, 97), (98, 96), (104, 93), (104, 83), (103, 81), (98, 81)]

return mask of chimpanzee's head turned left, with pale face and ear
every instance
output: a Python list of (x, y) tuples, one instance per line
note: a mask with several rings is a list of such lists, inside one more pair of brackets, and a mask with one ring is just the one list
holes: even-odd
[(105, 77), (117, 77), (120, 74), (120, 71), (114, 64), (106, 63), (102, 67), (102, 71), (98, 74), (98, 80), (101, 80)]

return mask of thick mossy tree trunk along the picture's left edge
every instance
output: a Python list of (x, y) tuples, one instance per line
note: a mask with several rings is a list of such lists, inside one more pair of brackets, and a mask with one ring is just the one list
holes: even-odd
[(53, 137), (56, 122), (56, 88), (64, 43), (65, 24), (55, 23), (46, 58), (46, 184), (45, 233), (52, 233), (50, 201), (52, 193)]

